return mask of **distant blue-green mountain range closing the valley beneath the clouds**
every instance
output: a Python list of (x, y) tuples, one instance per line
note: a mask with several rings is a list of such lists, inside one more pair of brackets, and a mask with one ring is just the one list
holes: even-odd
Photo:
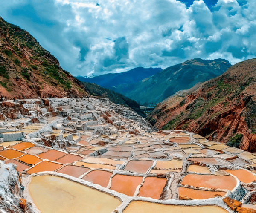
[(128, 72), (99, 75), (94, 78), (77, 78), (80, 81), (93, 82), (112, 89), (141, 105), (149, 105), (157, 104), (177, 91), (189, 89), (197, 83), (215, 78), (230, 66), (231, 64), (224, 59), (196, 58), (164, 70), (138, 67)]

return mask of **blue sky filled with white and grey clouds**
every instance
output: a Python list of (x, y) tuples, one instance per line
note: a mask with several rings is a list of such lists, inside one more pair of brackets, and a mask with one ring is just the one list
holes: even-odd
[(255, 0), (1, 0), (72, 75), (256, 58)]

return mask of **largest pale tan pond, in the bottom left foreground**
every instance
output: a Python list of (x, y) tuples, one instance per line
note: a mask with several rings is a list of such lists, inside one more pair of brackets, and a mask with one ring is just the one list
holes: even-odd
[(110, 213), (119, 199), (56, 176), (34, 176), (29, 193), (41, 213)]

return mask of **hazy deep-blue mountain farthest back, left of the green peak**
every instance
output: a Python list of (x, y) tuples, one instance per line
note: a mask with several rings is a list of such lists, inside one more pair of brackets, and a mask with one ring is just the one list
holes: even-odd
[(144, 78), (148, 78), (149, 76), (154, 75), (157, 72), (160, 72), (161, 70), (161, 68), (137, 67), (127, 72), (109, 73), (105, 75), (99, 75), (93, 78), (84, 78), (82, 76), (77, 76), (76, 78), (79, 79), (79, 81), (95, 83), (99, 86), (109, 89), (111, 87), (119, 86), (123, 83), (137, 83), (143, 80)]

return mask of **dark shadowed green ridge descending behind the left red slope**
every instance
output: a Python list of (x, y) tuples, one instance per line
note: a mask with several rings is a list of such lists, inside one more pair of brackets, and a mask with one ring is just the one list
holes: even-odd
[(124, 95), (114, 92), (111, 89), (105, 89), (95, 83), (88, 83), (83, 82), (85, 89), (90, 93), (92, 96), (102, 96), (104, 98), (108, 98), (115, 104), (122, 104), (124, 106), (130, 107), (133, 109), (137, 114), (142, 117), (145, 117), (145, 113), (140, 109), (140, 104), (136, 101), (131, 100), (130, 98), (125, 97)]

